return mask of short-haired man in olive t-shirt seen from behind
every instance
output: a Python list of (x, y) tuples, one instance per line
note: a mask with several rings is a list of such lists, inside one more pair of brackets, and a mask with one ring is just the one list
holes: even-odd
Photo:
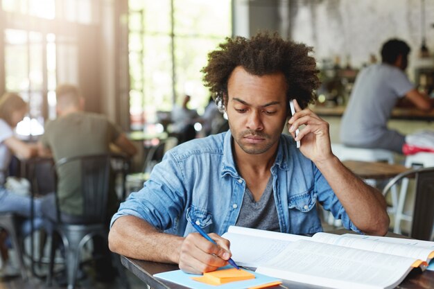
[[(110, 153), (111, 144), (128, 156), (137, 152), (121, 129), (108, 121), (105, 116), (83, 111), (85, 100), (78, 87), (70, 84), (59, 85), (55, 93), (58, 118), (46, 123), (45, 132), (38, 143), (40, 155), (53, 155), (55, 161), (64, 157), (99, 155)], [(78, 171), (58, 172), (57, 195), (62, 220), (80, 218), (80, 213), (82, 213), (83, 198), (80, 184), (76, 181), (79, 173)], [(110, 214), (118, 206), (114, 189), (110, 190), (108, 203), (110, 207), (107, 209)], [(48, 218), (54, 222), (57, 220), (55, 198), (51, 199), (51, 205), (46, 204), (44, 211)], [(101, 254), (97, 251), (103, 251), (106, 258), (97, 260), (96, 277), (101, 281), (110, 281), (114, 277), (111, 272), (113, 269), (110, 254), (103, 243), (96, 244), (99, 241), (99, 238), (94, 239), (94, 254)]]

